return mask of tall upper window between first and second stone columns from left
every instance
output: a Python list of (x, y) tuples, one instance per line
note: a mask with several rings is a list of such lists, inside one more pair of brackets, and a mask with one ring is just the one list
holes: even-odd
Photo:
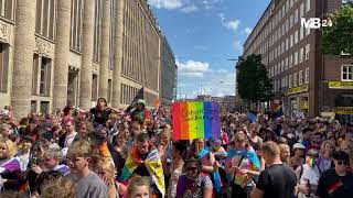
[(56, 0), (36, 0), (35, 33), (54, 41)]

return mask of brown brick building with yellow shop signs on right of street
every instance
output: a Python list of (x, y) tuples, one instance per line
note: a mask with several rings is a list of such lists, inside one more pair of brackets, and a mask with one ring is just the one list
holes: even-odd
[[(287, 116), (303, 112), (315, 117), (353, 107), (352, 58), (323, 55), (321, 30), (301, 25), (301, 19), (324, 19), (341, 6), (341, 0), (272, 0), (244, 44), (243, 57), (263, 56), (275, 100)], [(353, 122), (353, 113), (345, 114), (342, 118)]]

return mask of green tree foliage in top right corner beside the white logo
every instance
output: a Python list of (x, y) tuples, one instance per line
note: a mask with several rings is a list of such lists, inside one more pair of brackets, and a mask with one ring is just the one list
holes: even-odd
[(344, 52), (353, 55), (353, 3), (343, 6), (329, 18), (332, 26), (323, 28), (322, 52), (332, 55)]

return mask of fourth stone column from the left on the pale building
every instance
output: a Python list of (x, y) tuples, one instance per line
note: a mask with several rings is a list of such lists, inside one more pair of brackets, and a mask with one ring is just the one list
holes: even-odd
[(101, 20), (101, 46), (99, 66), (99, 90), (100, 98), (108, 97), (108, 69), (109, 69), (109, 38), (110, 38), (110, 0), (103, 0)]

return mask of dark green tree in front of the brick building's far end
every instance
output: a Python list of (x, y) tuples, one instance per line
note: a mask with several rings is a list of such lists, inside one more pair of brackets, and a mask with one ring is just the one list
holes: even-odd
[(268, 101), (272, 98), (272, 82), (264, 64), (261, 55), (250, 55), (240, 61), (237, 66), (237, 89), (240, 98), (250, 101)]

